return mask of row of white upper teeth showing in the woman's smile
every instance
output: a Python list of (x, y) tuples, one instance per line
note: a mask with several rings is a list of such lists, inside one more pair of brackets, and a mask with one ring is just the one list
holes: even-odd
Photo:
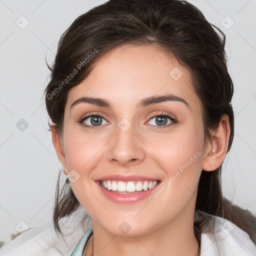
[(141, 190), (148, 190), (153, 188), (157, 184), (157, 181), (117, 181), (117, 180), (102, 180), (101, 185), (107, 190), (118, 192), (135, 192)]

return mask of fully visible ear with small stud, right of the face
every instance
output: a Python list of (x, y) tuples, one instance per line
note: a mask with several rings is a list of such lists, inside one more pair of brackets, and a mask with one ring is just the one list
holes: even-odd
[(212, 141), (205, 147), (202, 169), (211, 171), (217, 169), (223, 162), (230, 135), (229, 118), (222, 114), (218, 127), (212, 132)]

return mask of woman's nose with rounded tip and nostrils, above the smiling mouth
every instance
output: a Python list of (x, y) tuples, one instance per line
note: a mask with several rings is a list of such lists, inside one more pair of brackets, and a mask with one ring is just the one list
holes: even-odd
[(116, 134), (109, 141), (108, 160), (121, 166), (143, 161), (145, 145), (139, 139), (139, 135), (135, 134), (133, 126), (131, 125), (127, 130), (120, 127), (116, 127)]

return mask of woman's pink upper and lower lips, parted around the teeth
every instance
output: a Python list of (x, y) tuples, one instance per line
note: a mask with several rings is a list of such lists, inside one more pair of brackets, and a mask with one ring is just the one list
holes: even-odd
[(101, 186), (101, 180), (119, 180), (119, 181), (138, 181), (138, 180), (159, 180), (157, 178), (152, 177), (145, 177), (145, 176), (138, 176), (138, 175), (119, 175), (119, 174), (113, 174), (113, 175), (106, 175), (97, 178), (95, 181), (100, 189), (100, 191), (103, 193), (103, 195), (108, 198), (109, 200), (116, 202), (116, 203), (135, 203), (138, 201), (141, 201), (145, 198), (148, 198), (150, 195), (152, 195), (155, 190), (158, 188), (159, 183), (157, 183), (154, 187), (148, 190), (142, 190), (142, 191), (135, 191), (130, 192), (127, 194), (124, 193), (117, 193), (112, 190), (108, 190)]

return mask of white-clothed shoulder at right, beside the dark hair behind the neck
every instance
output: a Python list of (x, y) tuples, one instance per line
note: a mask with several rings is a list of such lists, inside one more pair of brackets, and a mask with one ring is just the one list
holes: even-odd
[(209, 225), (201, 234), (200, 256), (208, 255), (255, 256), (256, 245), (249, 235), (234, 223), (212, 216)]

